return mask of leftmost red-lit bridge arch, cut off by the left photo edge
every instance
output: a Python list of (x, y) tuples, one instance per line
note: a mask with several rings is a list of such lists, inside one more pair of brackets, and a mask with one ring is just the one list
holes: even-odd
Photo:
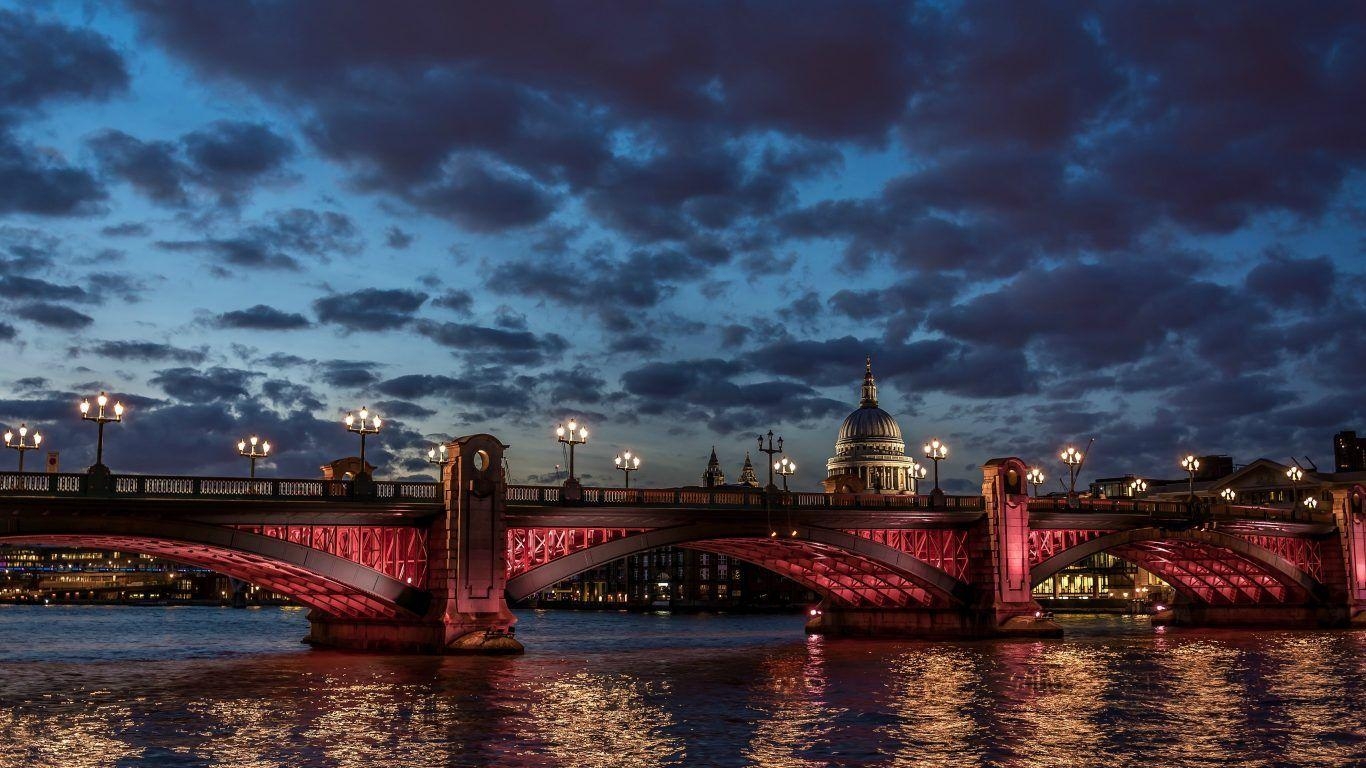
[(0, 543), (154, 555), (264, 586), (326, 615), (415, 618), (430, 596), (373, 568), (231, 526), (127, 517), (11, 517)]

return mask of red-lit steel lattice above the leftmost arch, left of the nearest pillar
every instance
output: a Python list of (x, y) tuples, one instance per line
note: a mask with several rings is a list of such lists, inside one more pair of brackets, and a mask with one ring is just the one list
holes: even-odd
[(378, 525), (242, 525), (250, 533), (346, 558), (415, 588), (426, 588), (426, 532)]

